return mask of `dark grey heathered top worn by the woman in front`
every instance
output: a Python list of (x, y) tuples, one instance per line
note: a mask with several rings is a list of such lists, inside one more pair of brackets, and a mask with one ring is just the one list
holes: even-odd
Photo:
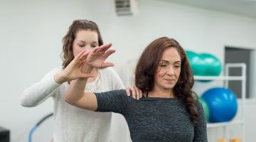
[[(95, 93), (96, 111), (113, 111), (127, 121), (132, 141), (206, 142), (206, 119), (196, 103), (198, 124), (193, 125), (186, 105), (177, 98), (127, 97), (124, 89)], [(118, 133), (117, 133), (118, 134)]]

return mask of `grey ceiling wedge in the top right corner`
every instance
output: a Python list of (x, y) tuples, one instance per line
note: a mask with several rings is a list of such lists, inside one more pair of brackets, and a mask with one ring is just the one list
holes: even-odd
[(256, 0), (164, 0), (256, 18)]

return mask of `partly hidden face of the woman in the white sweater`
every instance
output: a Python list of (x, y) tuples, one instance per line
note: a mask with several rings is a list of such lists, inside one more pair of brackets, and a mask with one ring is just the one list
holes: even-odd
[(73, 41), (73, 55), (78, 55), (82, 50), (90, 51), (99, 45), (96, 31), (80, 30)]

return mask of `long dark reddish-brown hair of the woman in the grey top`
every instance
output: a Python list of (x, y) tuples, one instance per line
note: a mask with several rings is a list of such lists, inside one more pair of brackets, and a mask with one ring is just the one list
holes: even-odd
[(193, 124), (196, 124), (198, 121), (198, 111), (196, 109), (195, 99), (193, 99), (193, 95), (196, 95), (192, 91), (194, 84), (193, 73), (185, 50), (173, 38), (157, 38), (144, 49), (137, 62), (135, 85), (144, 93), (152, 91), (154, 87), (154, 75), (157, 72), (159, 61), (164, 50), (168, 48), (175, 48), (181, 56), (181, 74), (178, 77), (178, 82), (174, 86), (174, 95), (186, 104), (186, 108), (191, 115), (191, 120)]

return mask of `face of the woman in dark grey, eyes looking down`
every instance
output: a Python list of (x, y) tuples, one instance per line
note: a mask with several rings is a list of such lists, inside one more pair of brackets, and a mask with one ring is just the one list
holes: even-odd
[(181, 56), (175, 48), (164, 50), (156, 74), (154, 88), (172, 90), (181, 73)]

